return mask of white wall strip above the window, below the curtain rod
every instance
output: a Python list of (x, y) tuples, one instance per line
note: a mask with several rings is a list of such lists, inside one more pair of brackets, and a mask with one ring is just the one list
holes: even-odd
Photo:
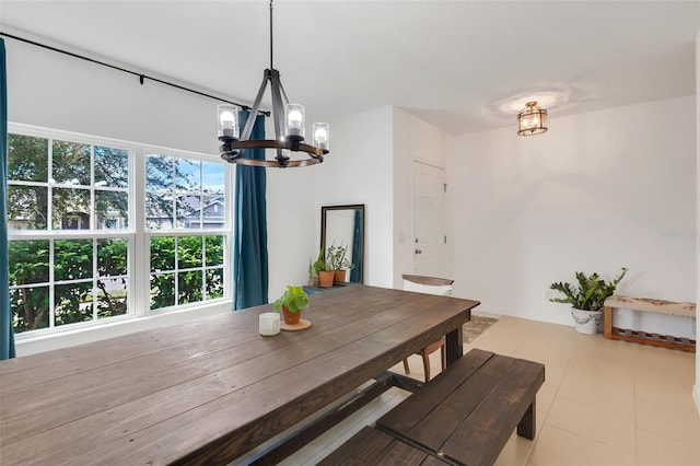
[(217, 153), (215, 101), (18, 40), (5, 47), (10, 121)]

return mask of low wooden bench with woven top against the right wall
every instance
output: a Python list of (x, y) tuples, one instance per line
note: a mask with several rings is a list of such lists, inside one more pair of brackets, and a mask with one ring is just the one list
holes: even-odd
[(673, 301), (629, 298), (616, 294), (605, 300), (603, 307), (605, 338), (696, 352), (696, 340), (690, 338), (648, 334), (645, 331), (612, 326), (612, 308), (615, 307), (696, 318), (696, 303), (676, 303)]

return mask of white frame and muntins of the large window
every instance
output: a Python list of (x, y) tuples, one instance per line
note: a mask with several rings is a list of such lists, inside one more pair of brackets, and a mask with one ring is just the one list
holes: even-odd
[[(92, 214), (92, 222), (90, 230), (63, 230), (52, 229), (52, 214), (48, 214), (50, 223), (47, 224), (46, 230), (10, 230), (8, 229), (8, 241), (49, 241), (50, 255), (49, 260), (55, 260), (54, 248), (57, 240), (106, 240), (106, 238), (125, 238), (128, 241), (129, 252), (127, 257), (127, 314), (120, 316), (112, 316), (107, 318), (93, 318), (86, 322), (55, 325), (55, 296), (54, 290), (57, 282), (54, 277), (54, 271), (49, 270), (49, 327), (38, 328), (35, 330), (26, 330), (15, 335), (16, 340), (20, 342), (24, 339), (32, 339), (34, 337), (40, 337), (45, 335), (60, 335), (73, 331), (75, 329), (86, 329), (95, 327), (104, 327), (119, 322), (130, 322), (138, 318), (151, 317), (154, 315), (177, 313), (177, 312), (196, 312), (203, 307), (210, 307), (213, 304), (226, 304), (230, 303), (233, 295), (232, 283), (232, 253), (231, 247), (233, 244), (233, 226), (231, 209), (224, 209), (224, 223), (222, 228), (217, 229), (187, 229), (187, 228), (173, 228), (162, 230), (148, 230), (145, 229), (145, 162), (147, 154), (161, 154), (168, 155), (178, 159), (188, 159), (201, 162), (214, 162), (224, 165), (224, 205), (232, 206), (233, 200), (233, 179), (234, 170), (231, 164), (225, 163), (217, 155), (198, 153), (194, 151), (185, 151), (172, 148), (163, 148), (153, 144), (142, 144), (137, 142), (129, 142), (124, 140), (117, 140), (113, 138), (103, 138), (96, 136), (89, 136), (84, 133), (78, 133), (72, 131), (65, 131), (58, 129), (43, 128), (38, 126), (8, 123), (8, 133), (22, 135), (28, 137), (44, 138), (49, 140), (49, 147), (52, 145), (51, 141), (60, 140), (75, 143), (90, 144), (91, 147), (106, 147), (110, 149), (126, 150), (128, 153), (128, 213), (127, 221), (128, 228), (126, 229), (96, 229), (98, 219), (95, 214)], [(94, 149), (91, 150), (94, 158)], [(48, 163), (50, 163), (50, 149)], [(94, 202), (95, 193), (95, 176), (94, 166), (91, 171), (91, 199)], [(51, 206), (49, 206), (49, 209)], [(94, 209), (94, 203), (93, 203)], [(174, 305), (168, 307), (162, 307), (156, 310), (150, 310), (150, 238), (152, 236), (223, 236), (223, 296), (214, 299), (203, 299), (187, 304)], [(93, 257), (93, 269), (95, 267), (97, 258)], [(206, 270), (206, 265), (202, 265), (202, 270)], [(93, 272), (93, 284), (98, 277), (95, 277)], [(39, 286), (47, 286), (47, 283), (36, 283)], [(35, 286), (32, 283), (31, 286)], [(18, 287), (22, 288), (22, 287)], [(94, 305), (94, 298), (93, 298)]]

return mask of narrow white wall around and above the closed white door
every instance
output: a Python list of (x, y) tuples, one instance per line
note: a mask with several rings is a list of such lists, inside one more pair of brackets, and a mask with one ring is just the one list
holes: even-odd
[[(445, 167), (450, 138), (435, 126), (394, 108), (394, 288), (402, 288), (402, 273), (413, 270), (413, 162)], [(447, 238), (448, 243), (452, 238)], [(450, 277), (451, 260), (445, 265)]]

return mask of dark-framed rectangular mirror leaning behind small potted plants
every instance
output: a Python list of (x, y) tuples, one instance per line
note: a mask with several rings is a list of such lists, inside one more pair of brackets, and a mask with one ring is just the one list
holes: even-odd
[(352, 265), (348, 281), (364, 279), (364, 205), (324, 206), (320, 208), (320, 247), (347, 247), (346, 258)]

